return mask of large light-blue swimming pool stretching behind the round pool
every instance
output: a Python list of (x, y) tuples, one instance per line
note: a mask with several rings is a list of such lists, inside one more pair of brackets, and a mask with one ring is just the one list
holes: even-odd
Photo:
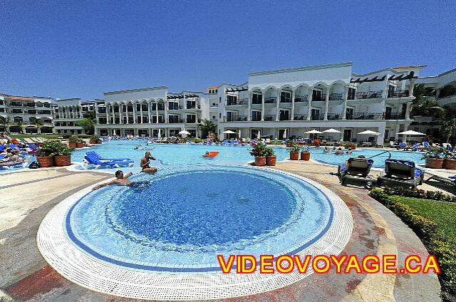
[[(140, 142), (140, 141), (139, 141)], [(129, 157), (135, 161), (133, 168), (125, 168), (124, 171), (139, 172), (140, 171), (140, 158), (144, 155), (145, 150), (133, 150), (138, 145), (138, 141), (124, 140), (124, 141), (112, 141), (103, 142), (102, 145), (96, 145), (95, 151), (99, 152), (103, 157)], [(151, 166), (163, 168), (165, 166), (175, 165), (245, 165), (247, 162), (252, 161), (253, 157), (250, 155), (252, 147), (229, 147), (229, 146), (217, 146), (217, 145), (175, 145), (175, 144), (154, 144), (150, 145), (154, 147), (154, 150), (150, 150), (152, 156), (157, 158), (157, 161), (152, 162)], [(149, 147), (150, 147), (149, 146)], [(277, 160), (285, 160), (289, 158), (289, 152), (284, 147), (273, 147), (277, 156)], [(358, 155), (364, 155), (366, 157), (372, 157), (379, 153), (385, 152), (385, 150), (372, 150), (362, 149), (353, 150), (351, 155), (334, 155), (333, 152), (328, 154), (323, 153), (323, 147), (314, 148), (311, 147), (311, 159), (318, 162), (323, 162), (329, 165), (341, 165), (350, 157), (357, 157)], [(76, 149), (73, 151), (72, 160), (73, 162), (81, 162), (86, 152), (89, 149)], [(217, 157), (204, 158), (204, 152), (206, 151), (219, 151)], [(417, 164), (424, 163), (421, 160), (421, 152), (405, 152), (405, 151), (390, 151), (391, 157), (398, 160), (413, 160)], [(388, 158), (388, 152), (383, 155), (378, 155), (373, 158), (373, 167), (385, 167), (385, 160)]]

